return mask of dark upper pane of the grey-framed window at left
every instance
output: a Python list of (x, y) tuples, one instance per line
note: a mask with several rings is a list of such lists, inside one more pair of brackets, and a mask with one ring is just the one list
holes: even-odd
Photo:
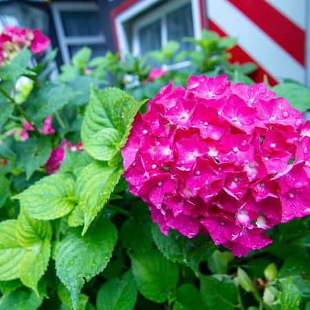
[(99, 12), (61, 12), (66, 37), (102, 34)]

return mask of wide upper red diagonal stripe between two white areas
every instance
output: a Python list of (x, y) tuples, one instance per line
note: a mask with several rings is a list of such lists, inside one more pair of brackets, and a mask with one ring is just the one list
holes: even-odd
[[(265, 0), (229, 0), (301, 65), (305, 63), (305, 33)], [(298, 4), (296, 4), (298, 6)]]

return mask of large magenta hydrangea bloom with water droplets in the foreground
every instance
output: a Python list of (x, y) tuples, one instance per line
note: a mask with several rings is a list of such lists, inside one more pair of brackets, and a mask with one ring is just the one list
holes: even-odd
[(130, 192), (163, 234), (209, 234), (235, 256), (310, 214), (310, 122), (264, 83), (191, 76), (137, 114), (122, 150)]

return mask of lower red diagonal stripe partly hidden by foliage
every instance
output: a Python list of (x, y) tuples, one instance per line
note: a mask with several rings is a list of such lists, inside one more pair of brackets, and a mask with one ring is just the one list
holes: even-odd
[[(227, 37), (227, 34), (225, 34), (223, 30), (218, 28), (218, 26), (210, 19), (209, 19), (209, 29), (217, 32), (220, 35), (220, 37)], [(236, 45), (234, 48), (231, 48), (229, 52), (231, 53), (231, 59), (229, 59), (231, 63), (238, 62), (242, 64), (242, 63), (252, 62), (258, 65), (258, 63), (254, 61), (254, 59), (252, 59), (251, 56), (249, 56), (238, 45)], [(260, 67), (260, 65), (258, 65), (258, 70), (256, 70), (254, 73), (251, 74), (251, 78), (254, 79), (254, 81), (256, 82), (262, 82), (264, 79), (264, 75), (267, 75), (269, 84), (271, 86), (278, 84), (278, 81), (276, 81), (276, 79), (273, 79), (273, 77), (269, 73), (267, 73), (262, 67)]]

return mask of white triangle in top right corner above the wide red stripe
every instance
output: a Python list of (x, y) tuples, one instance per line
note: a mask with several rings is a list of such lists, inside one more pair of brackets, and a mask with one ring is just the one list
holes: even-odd
[(273, 8), (288, 19), (296, 23), (303, 30), (306, 29), (306, 1), (307, 0), (267, 0)]

